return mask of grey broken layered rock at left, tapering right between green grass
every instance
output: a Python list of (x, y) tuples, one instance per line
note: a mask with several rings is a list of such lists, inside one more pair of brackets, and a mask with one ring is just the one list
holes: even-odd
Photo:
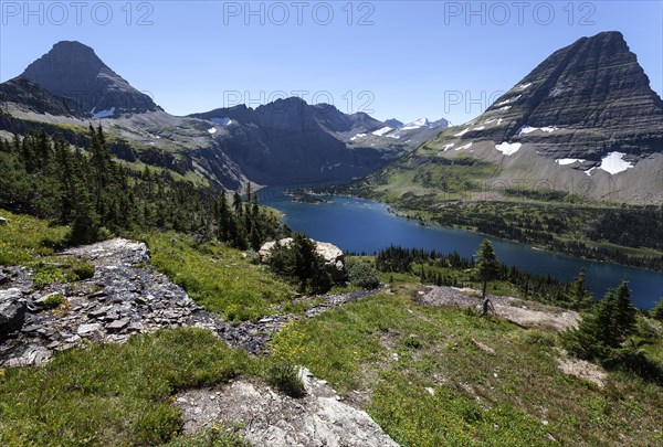
[[(54, 352), (94, 342), (125, 342), (134, 333), (164, 328), (200, 327), (251, 353), (263, 351), (284, 323), (315, 317), (372, 292), (327, 295), (302, 315), (278, 313), (260, 321), (229, 323), (193, 302), (185, 290), (150, 265), (143, 243), (122, 238), (67, 249), (62, 255), (88, 259), (92, 278), (34, 287), (24, 267), (0, 270), (0, 368), (38, 365)], [(63, 304), (48, 308), (49, 298)], [(307, 304), (313, 298), (296, 301)]]

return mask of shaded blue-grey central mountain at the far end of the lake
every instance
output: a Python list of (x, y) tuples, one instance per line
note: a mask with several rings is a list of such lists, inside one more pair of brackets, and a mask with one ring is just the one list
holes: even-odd
[(365, 175), (407, 149), (352, 146), (351, 137), (383, 124), (366, 114), (346, 115), (334, 106), (308, 105), (296, 97), (255, 109), (236, 106), (191, 117), (215, 123), (219, 147), (259, 183), (347, 180)]

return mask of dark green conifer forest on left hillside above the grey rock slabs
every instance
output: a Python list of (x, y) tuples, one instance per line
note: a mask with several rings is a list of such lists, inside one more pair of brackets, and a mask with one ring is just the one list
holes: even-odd
[(101, 126), (90, 127), (87, 150), (43, 131), (0, 139), (0, 206), (70, 225), (72, 244), (159, 228), (257, 249), (288, 233), (250, 184), (244, 198), (229, 196), (167, 170), (129, 169), (113, 159)]

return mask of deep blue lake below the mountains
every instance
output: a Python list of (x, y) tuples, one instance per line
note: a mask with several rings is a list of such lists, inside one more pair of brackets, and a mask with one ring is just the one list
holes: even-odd
[(417, 222), (389, 213), (385, 204), (365, 199), (323, 196), (332, 203), (297, 203), (284, 194), (283, 188), (269, 188), (260, 193), (261, 203), (284, 214), (291, 228), (317, 241), (330, 242), (346, 252), (372, 253), (389, 245), (459, 252), (471, 257), (485, 237), (491, 240), (499, 260), (539, 275), (571, 280), (585, 267), (587, 285), (600, 298), (622, 278), (629, 280), (633, 302), (650, 309), (663, 297), (663, 273), (617, 264), (586, 260), (532, 248), (483, 234), (421, 226)]

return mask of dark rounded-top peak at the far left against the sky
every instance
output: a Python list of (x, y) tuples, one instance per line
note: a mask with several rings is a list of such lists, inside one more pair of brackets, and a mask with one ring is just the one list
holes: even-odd
[(93, 117), (116, 117), (161, 108), (110, 70), (80, 42), (57, 42), (22, 74), (54, 95), (72, 98)]

